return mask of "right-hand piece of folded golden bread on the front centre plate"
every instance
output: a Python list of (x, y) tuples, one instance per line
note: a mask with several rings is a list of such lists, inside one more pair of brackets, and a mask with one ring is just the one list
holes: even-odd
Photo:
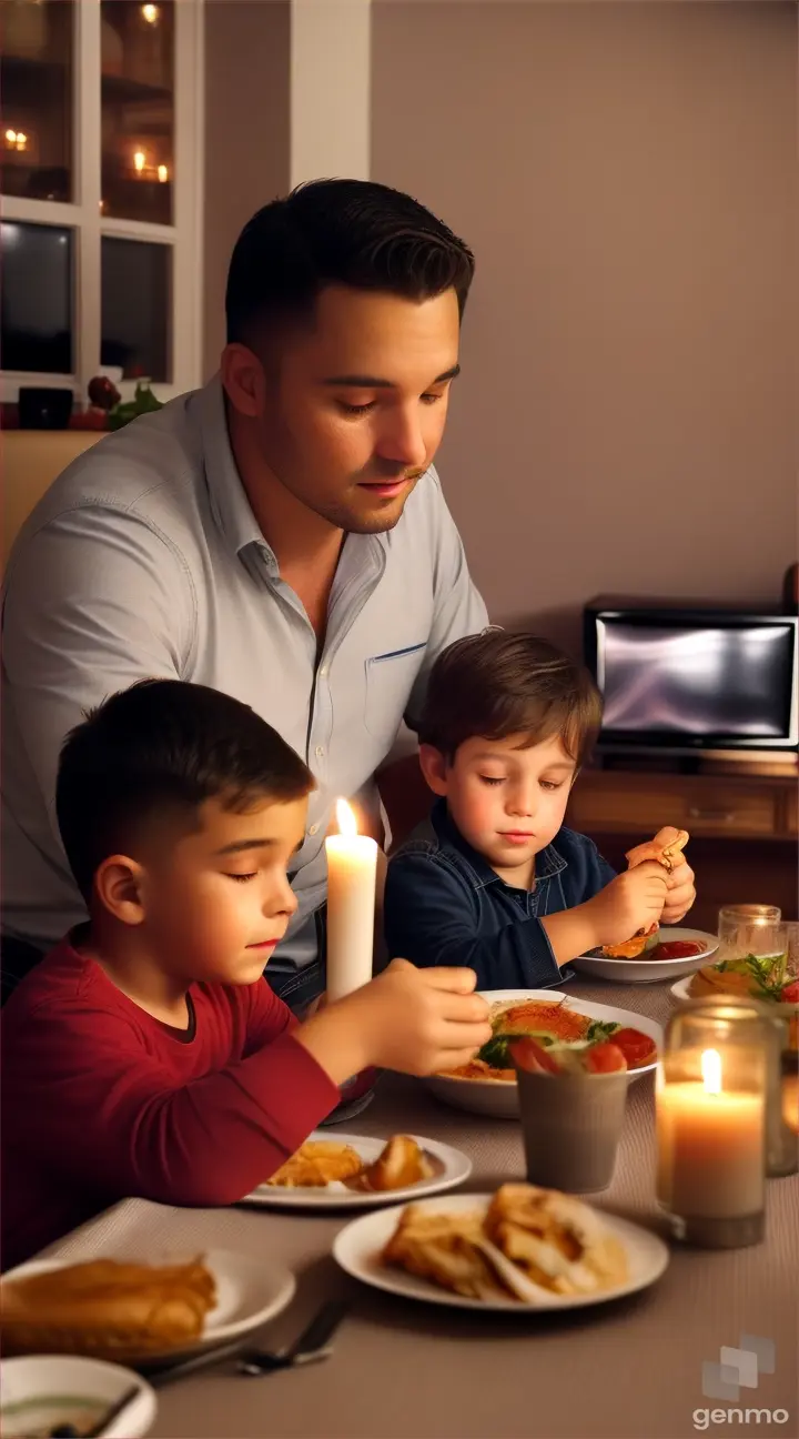
[(627, 1255), (579, 1199), (536, 1184), (503, 1184), (484, 1223), (487, 1238), (533, 1284), (553, 1294), (594, 1294), (627, 1279)]

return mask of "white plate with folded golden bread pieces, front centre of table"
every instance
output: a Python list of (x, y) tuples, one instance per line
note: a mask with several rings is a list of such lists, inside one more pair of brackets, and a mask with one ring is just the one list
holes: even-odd
[(635, 1294), (661, 1276), (670, 1258), (648, 1229), (535, 1184), (364, 1215), (336, 1236), (333, 1256), (346, 1274), (388, 1294), (507, 1314)]

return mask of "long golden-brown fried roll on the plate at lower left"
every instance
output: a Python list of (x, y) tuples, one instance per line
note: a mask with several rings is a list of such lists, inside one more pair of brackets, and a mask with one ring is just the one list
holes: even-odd
[(119, 1360), (191, 1344), (216, 1302), (213, 1274), (181, 1265), (93, 1259), (0, 1284), (7, 1354), (91, 1354)]

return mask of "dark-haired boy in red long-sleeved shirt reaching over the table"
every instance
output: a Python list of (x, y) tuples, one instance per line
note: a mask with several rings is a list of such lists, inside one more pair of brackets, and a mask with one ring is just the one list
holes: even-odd
[(395, 961), (300, 1025), (262, 981), (312, 789), (203, 685), (145, 681), (68, 737), (57, 820), (91, 920), (3, 1010), (3, 1268), (128, 1196), (230, 1204), (352, 1073), (433, 1073), (489, 1038), (463, 970)]

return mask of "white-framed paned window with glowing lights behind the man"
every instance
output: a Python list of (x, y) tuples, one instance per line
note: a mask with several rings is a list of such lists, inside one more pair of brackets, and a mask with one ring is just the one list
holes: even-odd
[[(203, 0), (0, 0), (1, 399), (200, 384)], [(125, 386), (122, 386), (125, 390)]]

